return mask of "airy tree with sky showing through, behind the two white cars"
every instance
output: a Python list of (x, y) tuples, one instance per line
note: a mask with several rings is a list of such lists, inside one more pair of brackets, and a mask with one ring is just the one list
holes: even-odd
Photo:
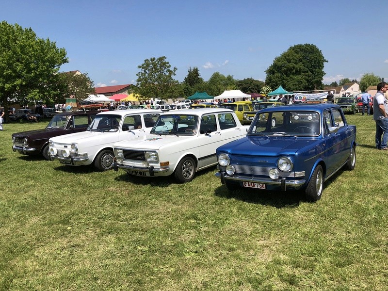
[(138, 78), (136, 80), (137, 87), (134, 88), (135, 93), (144, 96), (146, 99), (155, 97), (163, 100), (178, 97), (175, 96), (178, 91), (174, 90), (173, 87), (178, 85), (178, 81), (173, 79), (177, 68), (171, 69), (171, 65), (166, 61), (165, 56), (157, 59), (146, 59), (138, 68), (141, 71), (136, 74)]

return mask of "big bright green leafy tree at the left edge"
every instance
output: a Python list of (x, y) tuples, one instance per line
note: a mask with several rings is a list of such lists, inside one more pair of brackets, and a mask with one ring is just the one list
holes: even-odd
[[(56, 74), (68, 62), (65, 49), (38, 38), (31, 28), (0, 23), (0, 101), (8, 119), (8, 99), (42, 100), (56, 88)], [(53, 91), (54, 90), (54, 91)]]

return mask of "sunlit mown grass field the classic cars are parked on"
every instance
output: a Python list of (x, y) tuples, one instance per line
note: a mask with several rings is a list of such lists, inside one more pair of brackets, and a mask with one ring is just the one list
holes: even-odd
[(0, 290), (387, 290), (388, 152), (372, 116), (356, 169), (295, 193), (229, 193), (202, 171), (187, 184), (22, 156), (0, 131)]

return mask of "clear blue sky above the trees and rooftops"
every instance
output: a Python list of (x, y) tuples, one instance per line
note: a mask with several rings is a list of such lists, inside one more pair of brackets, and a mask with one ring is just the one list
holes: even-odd
[(0, 19), (65, 48), (60, 71), (87, 73), (96, 87), (135, 84), (137, 66), (160, 56), (178, 81), (195, 66), (205, 81), (214, 72), (264, 81), (275, 57), (306, 43), (328, 60), (324, 83), (364, 73), (388, 81), (383, 2), (0, 0)]

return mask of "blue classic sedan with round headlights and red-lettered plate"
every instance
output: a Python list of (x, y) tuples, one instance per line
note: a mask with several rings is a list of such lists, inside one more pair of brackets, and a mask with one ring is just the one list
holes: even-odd
[(323, 182), (356, 165), (356, 126), (336, 104), (294, 104), (260, 110), (245, 137), (216, 151), (215, 174), (229, 190), (303, 190), (317, 201)]

